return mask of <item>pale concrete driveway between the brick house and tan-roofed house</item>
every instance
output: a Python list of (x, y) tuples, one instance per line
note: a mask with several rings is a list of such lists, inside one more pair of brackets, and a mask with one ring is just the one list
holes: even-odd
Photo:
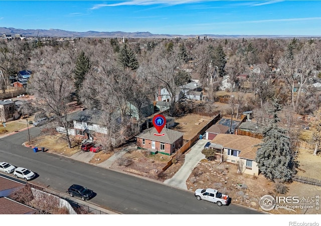
[(202, 150), (207, 142), (210, 140), (198, 140), (196, 144), (191, 148), (189, 153), (185, 155), (185, 162), (181, 169), (170, 179), (164, 181), (165, 184), (187, 190), (186, 180), (191, 175), (193, 169), (197, 164), (205, 159), (205, 155), (202, 154)]

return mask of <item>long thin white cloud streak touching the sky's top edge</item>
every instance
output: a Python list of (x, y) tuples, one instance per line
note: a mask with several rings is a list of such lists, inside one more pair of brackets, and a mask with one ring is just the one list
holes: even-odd
[(175, 6), (175, 5), (182, 5), (182, 4), (189, 4), (189, 3), (196, 3), (202, 1), (195, 1), (195, 0), (186, 0), (186, 1), (125, 1), (121, 3), (114, 3), (114, 4), (97, 4), (94, 5), (91, 10), (98, 10), (102, 7), (117, 7), (117, 6), (151, 6), (151, 5), (166, 5), (166, 6)]

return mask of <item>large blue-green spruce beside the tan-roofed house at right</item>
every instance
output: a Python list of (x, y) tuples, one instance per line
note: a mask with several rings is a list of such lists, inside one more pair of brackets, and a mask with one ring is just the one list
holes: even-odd
[(280, 121), (277, 112), (281, 110), (279, 100), (275, 99), (268, 110), (272, 118), (263, 131), (263, 143), (256, 152), (257, 166), (262, 174), (271, 179), (288, 181), (293, 173), (293, 156), (290, 150), (290, 138), (286, 131), (278, 127)]

